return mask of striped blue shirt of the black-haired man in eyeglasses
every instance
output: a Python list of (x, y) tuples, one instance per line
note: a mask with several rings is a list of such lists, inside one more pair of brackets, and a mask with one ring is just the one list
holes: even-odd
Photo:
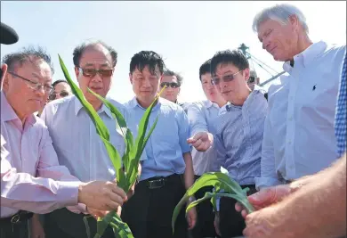
[(254, 177), (261, 173), (262, 134), (268, 108), (264, 93), (255, 89), (243, 106), (227, 103), (214, 121), (217, 160), (213, 170), (226, 168), (239, 185), (254, 185)]

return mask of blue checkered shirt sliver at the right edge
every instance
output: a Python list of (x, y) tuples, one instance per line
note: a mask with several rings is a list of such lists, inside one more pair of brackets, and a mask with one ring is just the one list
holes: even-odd
[(336, 115), (335, 115), (335, 135), (337, 141), (337, 154), (339, 157), (346, 152), (346, 137), (347, 137), (347, 82), (346, 82), (346, 64), (347, 56), (344, 55), (343, 71), (341, 74), (340, 89), (337, 99)]

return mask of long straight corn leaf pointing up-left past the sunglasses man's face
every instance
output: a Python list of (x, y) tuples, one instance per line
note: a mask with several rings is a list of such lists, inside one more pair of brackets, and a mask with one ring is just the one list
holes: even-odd
[(61, 59), (61, 55), (59, 55), (59, 62), (61, 63), (61, 70), (64, 73), (65, 78), (67, 79), (69, 86), (71, 86), (72, 92), (76, 95), (77, 99), (80, 103), (85, 107), (87, 113), (89, 114), (90, 118), (93, 121), (93, 124), (96, 127), (97, 133), (106, 140), (109, 140), (109, 130), (103, 123), (102, 119), (98, 115), (98, 113), (93, 109), (93, 106), (91, 103), (88, 103), (88, 101), (85, 100), (85, 95), (82, 93), (82, 91), (78, 88), (78, 86), (72, 81), (72, 79), (69, 76), (69, 71), (67, 70), (64, 62)]

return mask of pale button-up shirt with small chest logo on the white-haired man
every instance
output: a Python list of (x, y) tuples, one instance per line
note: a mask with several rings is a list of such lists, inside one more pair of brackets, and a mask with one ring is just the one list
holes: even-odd
[(327, 168), (337, 159), (335, 104), (346, 46), (320, 41), (295, 55), (269, 88), (269, 112), (256, 186), (278, 185)]

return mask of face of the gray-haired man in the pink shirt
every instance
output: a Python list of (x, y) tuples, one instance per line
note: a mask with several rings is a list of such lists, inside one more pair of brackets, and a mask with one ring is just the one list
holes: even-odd
[(4, 93), (16, 113), (26, 117), (44, 107), (52, 90), (51, 84), (50, 66), (40, 59), (31, 58), (22, 65), (16, 64), (14, 70), (7, 72)]

